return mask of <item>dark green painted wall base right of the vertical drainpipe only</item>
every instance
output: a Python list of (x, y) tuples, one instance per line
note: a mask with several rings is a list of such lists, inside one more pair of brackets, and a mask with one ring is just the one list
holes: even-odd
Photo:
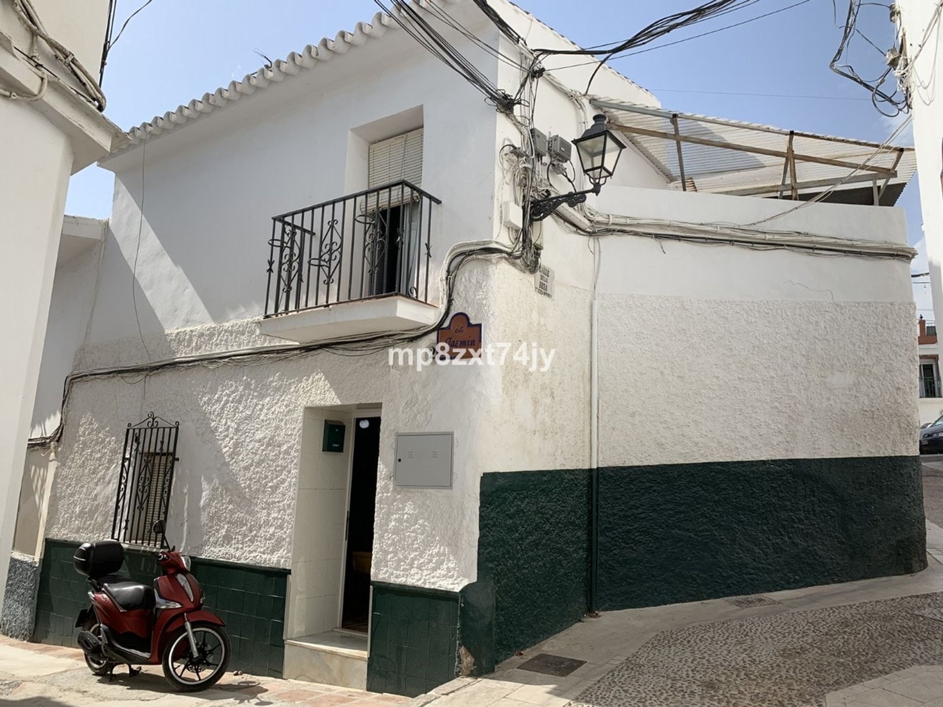
[(918, 457), (599, 471), (603, 610), (926, 567)]

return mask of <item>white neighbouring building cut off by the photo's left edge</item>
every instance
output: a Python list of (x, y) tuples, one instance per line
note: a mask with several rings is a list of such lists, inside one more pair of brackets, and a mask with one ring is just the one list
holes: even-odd
[[(10, 304), (0, 354), (0, 553), (16, 501), (40, 372), (69, 176), (108, 155), (119, 131), (97, 84), (108, 0), (0, 3), (0, 296)], [(7, 565), (0, 564), (0, 601)]]

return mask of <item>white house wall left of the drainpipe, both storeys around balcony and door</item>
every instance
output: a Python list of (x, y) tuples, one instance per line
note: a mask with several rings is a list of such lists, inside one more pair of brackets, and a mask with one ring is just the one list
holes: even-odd
[[(463, 21), (495, 41), (495, 30), (472, 10)], [(85, 363), (272, 344), (254, 323), (262, 313), (271, 216), (353, 190), (349, 132), (417, 106), (422, 186), (442, 200), (435, 262), (456, 242), (491, 238), (496, 113), (410, 42), (389, 32), (109, 160), (117, 176), (114, 240), (103, 255)], [(135, 257), (143, 342), (130, 297)], [(376, 527), (384, 530), (374, 543), (373, 579), (445, 589), (472, 582), (480, 474), (587, 464), (587, 295), (575, 289), (567, 296), (561, 283), (561, 296), (539, 301), (522, 328), (520, 310), (507, 303), (530, 308), (531, 275), (476, 263), (457, 281), (456, 309), (483, 323), (487, 341), (555, 345), (554, 371), (568, 371), (567, 379), (543, 374), (532, 386), (511, 367), (418, 372), (391, 370), (386, 354), (315, 354), (260, 367), (172, 370), (137, 385), (83, 382), (69, 404), (47, 534), (108, 532), (124, 425), (154, 410), (181, 422), (174, 541), (194, 554), (289, 567), (306, 409), (380, 403)], [(574, 424), (566, 443), (548, 445), (561, 410)], [(454, 488), (396, 488), (395, 434), (442, 430), (455, 431)]]

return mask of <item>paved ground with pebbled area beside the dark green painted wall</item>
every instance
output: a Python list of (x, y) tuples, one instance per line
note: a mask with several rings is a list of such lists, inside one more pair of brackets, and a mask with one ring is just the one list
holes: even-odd
[[(914, 575), (587, 618), (411, 704), (943, 707), (943, 529), (927, 535)], [(541, 653), (586, 663), (562, 678), (521, 670)]]

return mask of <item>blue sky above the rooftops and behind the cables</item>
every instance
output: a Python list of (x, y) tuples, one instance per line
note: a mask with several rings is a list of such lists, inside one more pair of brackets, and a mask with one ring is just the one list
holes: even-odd
[[(751, 7), (654, 44), (731, 25), (798, 0), (757, 0)], [(660, 16), (691, 8), (699, 0), (518, 0), (518, 4), (582, 45), (625, 39)], [(117, 27), (143, 0), (117, 0)], [(839, 22), (846, 0), (835, 0)], [(369, 20), (372, 0), (153, 0), (135, 17), (108, 58), (103, 88), (108, 117), (124, 128), (150, 120), (194, 97), (255, 71), (255, 50), (284, 58), (341, 28)], [(893, 41), (887, 9), (865, 4), (859, 25), (880, 47)], [(716, 34), (685, 41), (612, 65), (659, 96), (665, 107), (736, 120), (769, 123), (864, 140), (885, 140), (897, 121), (871, 106), (866, 90), (831, 72), (840, 29), (832, 0), (807, 0), (798, 7)], [(857, 37), (852, 63), (859, 73), (879, 74), (882, 58)], [(456, 79), (457, 80), (457, 79)], [(779, 98), (749, 95), (806, 96)], [(811, 98), (808, 96), (817, 96)], [(904, 138), (909, 144), (909, 135)], [(111, 174), (90, 167), (70, 184), (66, 212), (107, 218)], [(920, 214), (916, 180), (898, 203), (907, 211), (910, 241), (919, 243)], [(915, 261), (914, 270), (920, 270)], [(926, 278), (920, 278), (925, 280)], [(918, 308), (930, 306), (915, 286)], [(923, 312), (932, 317), (932, 313)]]

